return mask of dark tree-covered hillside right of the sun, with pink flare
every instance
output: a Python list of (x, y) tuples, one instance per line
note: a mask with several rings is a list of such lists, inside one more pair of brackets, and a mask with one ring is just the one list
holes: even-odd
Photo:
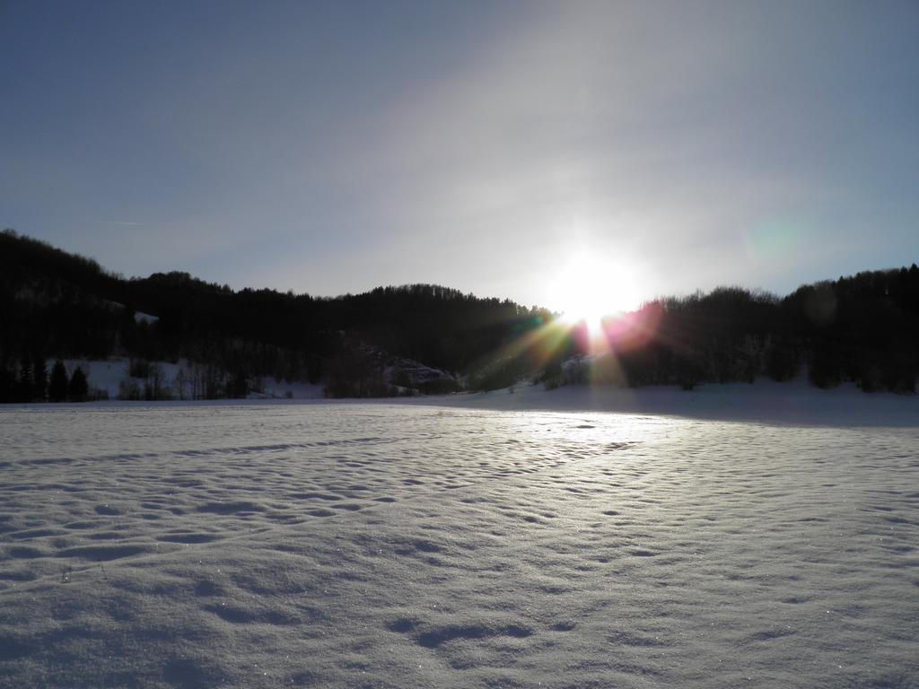
[[(867, 271), (804, 285), (784, 298), (716, 288), (655, 299), (630, 314), (634, 328), (564, 379), (630, 386), (782, 381), (806, 370), (813, 385), (853, 382), (866, 392), (913, 393), (919, 378), (919, 267)], [(584, 335), (574, 354), (587, 354)], [(569, 352), (571, 354), (571, 352)]]

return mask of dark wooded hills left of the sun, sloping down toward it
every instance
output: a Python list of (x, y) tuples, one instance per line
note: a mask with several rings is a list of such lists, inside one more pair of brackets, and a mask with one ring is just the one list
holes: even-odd
[(448, 372), (439, 384), (421, 386), (442, 389), (549, 315), (436, 285), (318, 298), (233, 290), (182, 272), (125, 278), (0, 232), (0, 368), (7, 374), (22, 356), (186, 358), (220, 373), (202, 396), (238, 395), (269, 376), (327, 383), (333, 394), (389, 394), (392, 386), (382, 384), (388, 357), (403, 357)]

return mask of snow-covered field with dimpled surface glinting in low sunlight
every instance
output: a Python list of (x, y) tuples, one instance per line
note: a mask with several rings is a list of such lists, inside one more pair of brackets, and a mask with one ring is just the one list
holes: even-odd
[(915, 400), (641, 394), (2, 409), (0, 686), (919, 686)]

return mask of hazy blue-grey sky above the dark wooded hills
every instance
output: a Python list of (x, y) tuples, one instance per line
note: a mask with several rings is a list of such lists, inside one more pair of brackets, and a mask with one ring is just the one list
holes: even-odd
[(576, 311), (919, 262), (919, 4), (0, 0), (0, 227)]

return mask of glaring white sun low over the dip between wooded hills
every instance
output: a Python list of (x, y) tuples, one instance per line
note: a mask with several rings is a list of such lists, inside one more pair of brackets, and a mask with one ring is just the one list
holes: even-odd
[(599, 326), (607, 316), (637, 309), (641, 303), (635, 270), (628, 262), (579, 252), (562, 264), (550, 284), (553, 308), (571, 324)]

